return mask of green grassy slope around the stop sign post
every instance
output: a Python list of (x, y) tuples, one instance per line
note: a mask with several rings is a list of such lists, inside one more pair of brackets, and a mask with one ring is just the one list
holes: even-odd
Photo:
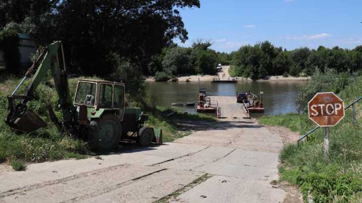
[[(361, 96), (362, 77), (339, 94), (348, 105)], [(280, 153), (281, 180), (301, 186), (304, 197), (311, 191), (315, 202), (362, 201), (362, 102), (357, 105), (357, 123), (352, 122), (351, 109), (345, 118), (330, 128), (329, 158), (323, 158), (324, 131), (314, 132), (300, 147), (287, 145)], [(266, 116), (262, 124), (286, 126), (301, 135), (315, 124), (307, 115)]]

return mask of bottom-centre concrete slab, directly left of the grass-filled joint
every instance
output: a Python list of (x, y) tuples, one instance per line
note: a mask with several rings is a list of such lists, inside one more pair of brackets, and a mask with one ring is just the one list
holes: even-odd
[(185, 170), (164, 170), (81, 202), (154, 202), (191, 183), (202, 174)]

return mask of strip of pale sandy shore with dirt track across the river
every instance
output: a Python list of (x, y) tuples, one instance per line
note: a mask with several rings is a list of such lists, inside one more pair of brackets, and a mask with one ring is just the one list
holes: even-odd
[[(229, 80), (234, 79), (238, 81), (252, 81), (248, 78), (232, 78), (229, 75), (229, 67), (230, 66), (222, 66), (222, 70), (220, 70), (217, 75), (187, 75), (187, 76), (181, 76), (177, 77), (177, 80), (179, 82), (197, 82), (197, 81), (213, 81), (213, 80)], [(310, 77), (283, 77), (283, 75), (276, 75), (267, 77), (266, 79), (260, 79), (257, 81), (308, 81), (310, 80)], [(154, 82), (154, 77), (146, 78), (147, 82)]]

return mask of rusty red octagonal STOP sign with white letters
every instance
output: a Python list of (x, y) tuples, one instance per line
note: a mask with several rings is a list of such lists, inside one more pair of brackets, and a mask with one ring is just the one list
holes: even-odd
[(308, 115), (319, 126), (334, 126), (345, 116), (344, 108), (343, 100), (333, 92), (320, 92), (308, 102)]

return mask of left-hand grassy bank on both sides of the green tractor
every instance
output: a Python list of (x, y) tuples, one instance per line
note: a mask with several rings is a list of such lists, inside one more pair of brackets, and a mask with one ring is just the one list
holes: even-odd
[[(24, 165), (24, 162), (54, 161), (67, 158), (82, 159), (88, 157), (92, 152), (89, 151), (87, 143), (63, 137), (53, 124), (31, 133), (19, 133), (9, 128), (4, 122), (8, 106), (6, 96), (11, 93), (19, 81), (20, 79), (10, 78), (0, 82), (0, 163), (7, 162), (14, 169), (22, 170), (24, 168), (21, 165)], [(69, 80), (71, 98), (74, 97), (77, 81), (78, 79)], [(24, 92), (28, 84), (29, 81), (20, 88), (17, 94)], [(52, 82), (47, 84), (41, 83), (35, 92), (35, 99), (28, 102), (28, 108), (34, 110), (47, 123), (51, 122), (46, 106), (47, 103), (51, 103), (56, 115), (61, 117), (60, 111), (56, 108), (58, 97), (56, 91), (51, 86)], [(154, 115), (151, 115), (150, 120), (146, 123), (148, 126), (162, 128), (164, 141), (172, 141), (188, 135), (188, 132), (178, 131), (177, 126), (174, 124), (175, 119), (213, 120), (213, 118), (207, 116), (185, 115), (177, 111), (173, 116), (164, 116), (170, 111), (169, 109), (157, 108)]]

